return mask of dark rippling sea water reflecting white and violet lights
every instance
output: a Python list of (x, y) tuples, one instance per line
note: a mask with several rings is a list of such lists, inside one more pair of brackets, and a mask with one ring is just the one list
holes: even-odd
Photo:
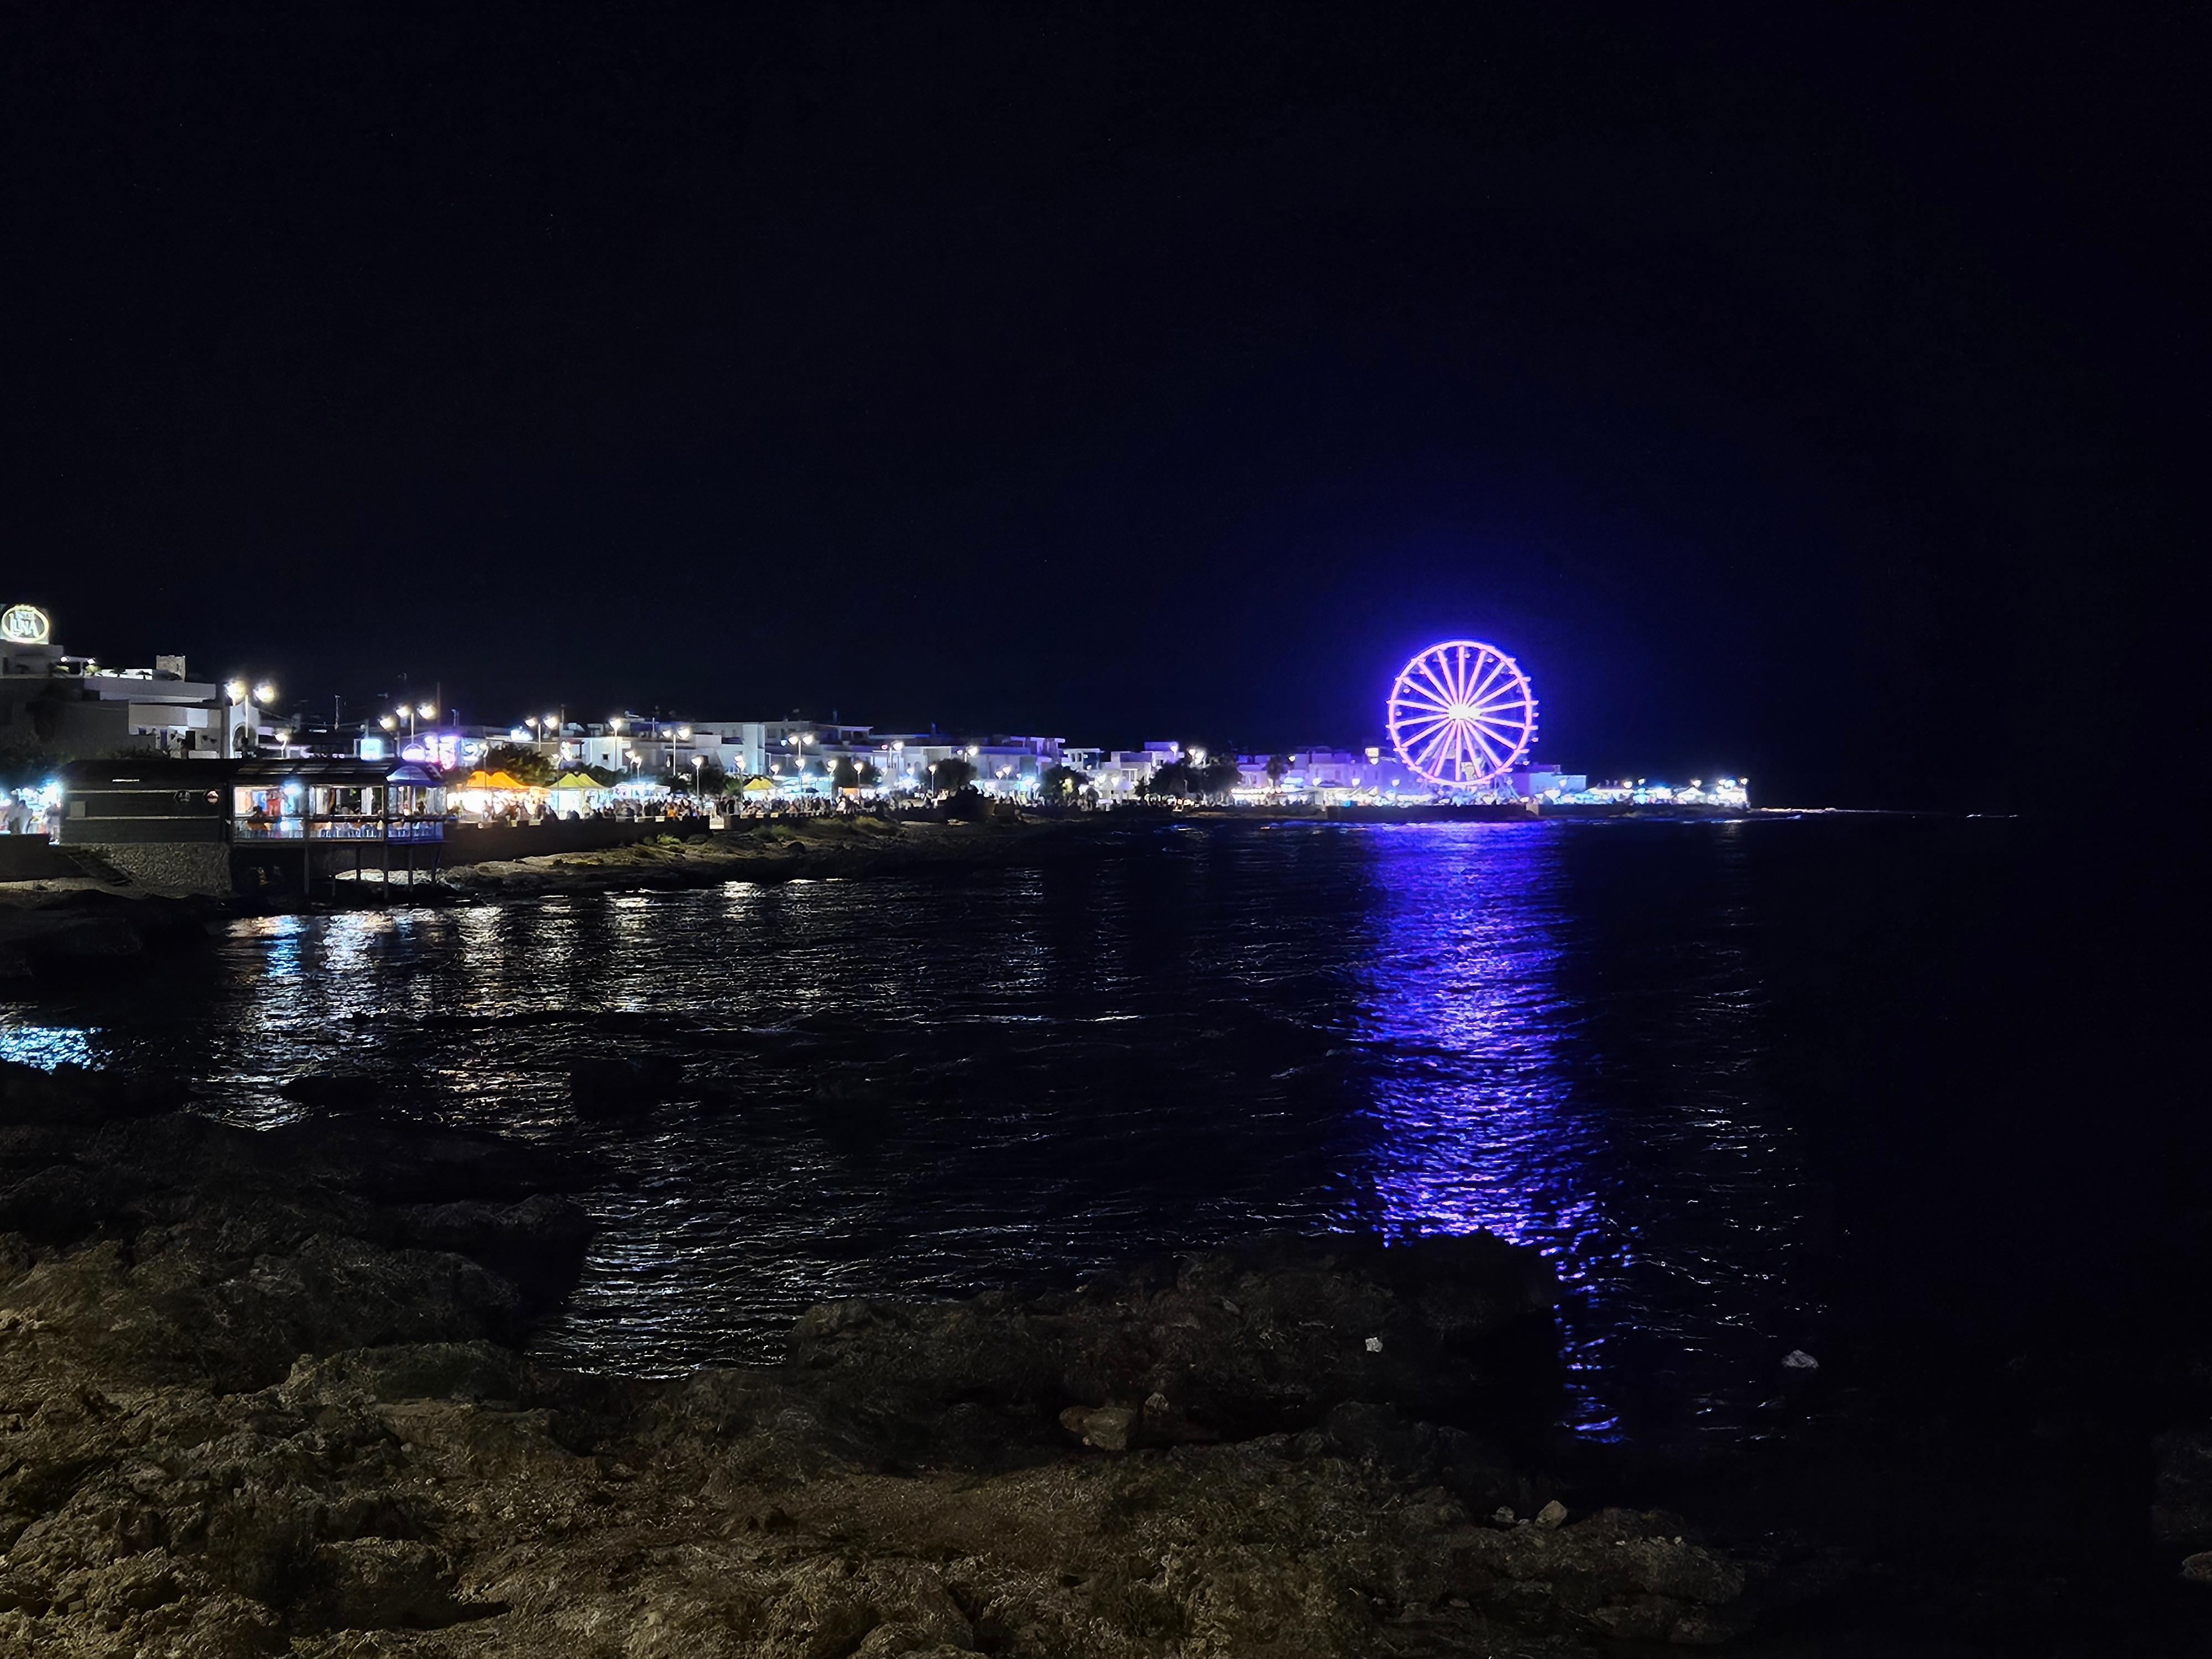
[[(1254, 1228), (1544, 1250), (1571, 1420), (1756, 1429), (1847, 1314), (2033, 1321), (2148, 1203), (2117, 993), (2017, 823), (1146, 825), (1042, 869), (263, 918), (0, 1055), (307, 1071), (586, 1152), (542, 1336), (670, 1374), (807, 1305), (1064, 1283)], [(2106, 964), (2108, 967), (2108, 964)], [(690, 1099), (580, 1121), (577, 1055)]]

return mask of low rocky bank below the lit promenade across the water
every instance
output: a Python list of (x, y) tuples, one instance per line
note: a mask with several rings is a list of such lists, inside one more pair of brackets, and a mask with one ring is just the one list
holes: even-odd
[(1073, 852), (1104, 832), (1097, 818), (998, 812), (978, 823), (927, 818), (743, 818), (712, 836), (659, 836), (597, 852), (453, 865), (442, 885), (469, 896), (599, 894), (628, 887), (703, 887), (801, 876), (902, 876), (920, 869), (1002, 867)]

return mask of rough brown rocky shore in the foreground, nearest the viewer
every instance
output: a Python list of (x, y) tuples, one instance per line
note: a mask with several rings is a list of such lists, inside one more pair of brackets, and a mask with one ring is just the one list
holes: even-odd
[(1444, 1655), (1705, 1644), (1745, 1571), (1484, 1442), (1544, 1263), (1265, 1239), (834, 1303), (779, 1367), (522, 1358), (577, 1172), (0, 1068), (0, 1652)]

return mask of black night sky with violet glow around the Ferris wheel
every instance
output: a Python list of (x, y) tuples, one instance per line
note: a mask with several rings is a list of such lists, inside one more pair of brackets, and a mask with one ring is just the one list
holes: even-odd
[(2203, 11), (0, 18), (73, 650), (1252, 748), (1478, 635), (1559, 761), (1944, 805), (2194, 677)]

